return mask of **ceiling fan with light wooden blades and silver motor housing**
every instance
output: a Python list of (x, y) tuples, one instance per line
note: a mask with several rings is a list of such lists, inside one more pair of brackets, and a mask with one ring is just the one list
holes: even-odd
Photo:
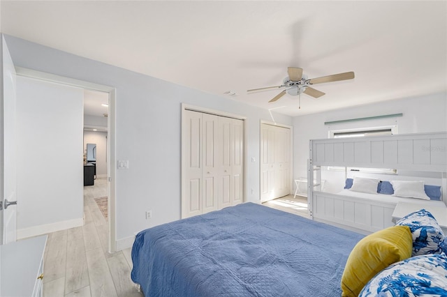
[[(279, 93), (277, 96), (274, 96), (274, 98), (272, 98), (272, 100), (270, 100), (269, 102), (275, 102), (275, 101), (279, 100), (279, 98), (286, 95), (286, 93), (288, 93), (289, 95), (292, 95), (292, 96), (301, 95), (301, 93), (305, 93), (305, 94), (312, 96), (314, 98), (319, 98), (319, 97), (323, 96), (325, 93), (310, 87), (312, 84), (321, 84), (323, 82), (337, 82), (339, 80), (346, 80), (346, 79), (354, 78), (354, 73), (352, 71), (348, 72), (348, 73), (338, 73), (335, 75), (327, 75), (327, 76), (316, 77), (316, 78), (312, 78), (312, 79), (308, 79), (307, 75), (302, 74), (302, 68), (288, 67), (287, 73), (288, 73), (288, 77), (285, 77), (283, 79), (283, 82), (280, 86), (268, 86), (265, 88), (251, 89), (251, 90), (247, 90), (247, 92), (288, 88), (288, 89), (281, 91), (281, 93)], [(301, 104), (300, 104), (300, 108), (301, 108)]]

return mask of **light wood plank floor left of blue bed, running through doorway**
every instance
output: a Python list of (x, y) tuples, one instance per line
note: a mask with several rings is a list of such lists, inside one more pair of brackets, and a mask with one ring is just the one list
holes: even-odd
[(131, 281), (131, 249), (107, 252), (107, 221), (94, 201), (107, 196), (106, 178), (84, 187), (85, 224), (48, 234), (44, 297), (142, 296)]

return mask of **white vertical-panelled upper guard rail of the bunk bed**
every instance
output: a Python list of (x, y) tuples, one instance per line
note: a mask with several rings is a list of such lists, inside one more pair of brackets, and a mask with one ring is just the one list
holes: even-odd
[(447, 132), (310, 141), (314, 166), (447, 172)]

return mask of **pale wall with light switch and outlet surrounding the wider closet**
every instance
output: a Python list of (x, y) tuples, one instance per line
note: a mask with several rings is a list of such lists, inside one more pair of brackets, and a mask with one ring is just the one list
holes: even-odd
[[(259, 135), (268, 110), (245, 105), (129, 70), (6, 36), (15, 66), (116, 88), (116, 157), (129, 169), (116, 173), (117, 241), (180, 218), (181, 104), (247, 116), (247, 201), (259, 201)], [(274, 114), (291, 125), (289, 116)], [(247, 162), (256, 158), (256, 162)], [(248, 189), (254, 188), (254, 193)], [(145, 211), (152, 219), (145, 220)]]

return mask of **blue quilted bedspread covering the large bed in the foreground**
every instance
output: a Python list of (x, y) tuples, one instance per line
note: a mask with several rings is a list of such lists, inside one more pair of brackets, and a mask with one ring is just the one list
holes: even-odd
[(341, 296), (362, 238), (246, 203), (141, 231), (133, 282), (145, 296)]

